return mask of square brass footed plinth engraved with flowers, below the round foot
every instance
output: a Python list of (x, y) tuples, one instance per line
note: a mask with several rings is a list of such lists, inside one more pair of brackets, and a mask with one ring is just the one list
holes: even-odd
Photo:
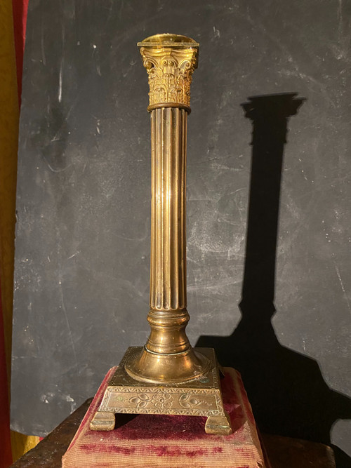
[(155, 385), (133, 379), (124, 364), (133, 354), (143, 352), (143, 347), (130, 347), (105, 390), (102, 403), (96, 411), (90, 428), (96, 431), (114, 429), (114, 415), (159, 414), (207, 417), (207, 434), (232, 433), (230, 418), (224, 407), (216, 354), (212, 348), (195, 348), (206, 356), (210, 365), (201, 377), (178, 384)]

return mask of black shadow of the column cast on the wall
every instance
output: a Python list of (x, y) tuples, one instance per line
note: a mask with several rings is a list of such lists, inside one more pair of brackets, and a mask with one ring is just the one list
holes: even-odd
[[(261, 431), (330, 446), (333, 423), (351, 417), (351, 399), (328, 387), (317, 361), (282, 346), (272, 326), (287, 123), (303, 101), (284, 93), (242, 105), (253, 140), (241, 320), (232, 335), (201, 336), (197, 346), (215, 348), (223, 366), (239, 370)], [(351, 467), (350, 457), (333, 450), (337, 467)]]

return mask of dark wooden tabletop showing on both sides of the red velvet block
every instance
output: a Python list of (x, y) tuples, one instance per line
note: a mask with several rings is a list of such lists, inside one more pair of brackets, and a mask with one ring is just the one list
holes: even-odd
[[(86, 400), (72, 415), (29, 450), (13, 468), (60, 468), (61, 458), (72, 441), (92, 399)], [(272, 468), (335, 468), (333, 450), (322, 443), (261, 434)]]

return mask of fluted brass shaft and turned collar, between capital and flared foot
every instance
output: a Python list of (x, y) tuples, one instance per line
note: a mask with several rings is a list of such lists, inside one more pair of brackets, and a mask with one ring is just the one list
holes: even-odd
[(161, 107), (151, 112), (152, 201), (150, 314), (147, 349), (183, 352), (187, 314), (185, 174), (187, 112)]

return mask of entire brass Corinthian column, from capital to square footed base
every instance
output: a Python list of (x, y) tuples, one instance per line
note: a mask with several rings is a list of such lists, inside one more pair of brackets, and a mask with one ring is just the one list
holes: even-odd
[[(186, 287), (185, 174), (190, 84), (199, 44), (157, 34), (138, 43), (150, 85), (150, 336), (130, 347), (110, 380), (91, 429), (111, 430), (115, 413), (206, 416), (208, 434), (230, 434), (216, 354), (192, 348)], [(191, 182), (190, 182), (191, 183)], [(145, 314), (146, 315), (146, 314)]]

